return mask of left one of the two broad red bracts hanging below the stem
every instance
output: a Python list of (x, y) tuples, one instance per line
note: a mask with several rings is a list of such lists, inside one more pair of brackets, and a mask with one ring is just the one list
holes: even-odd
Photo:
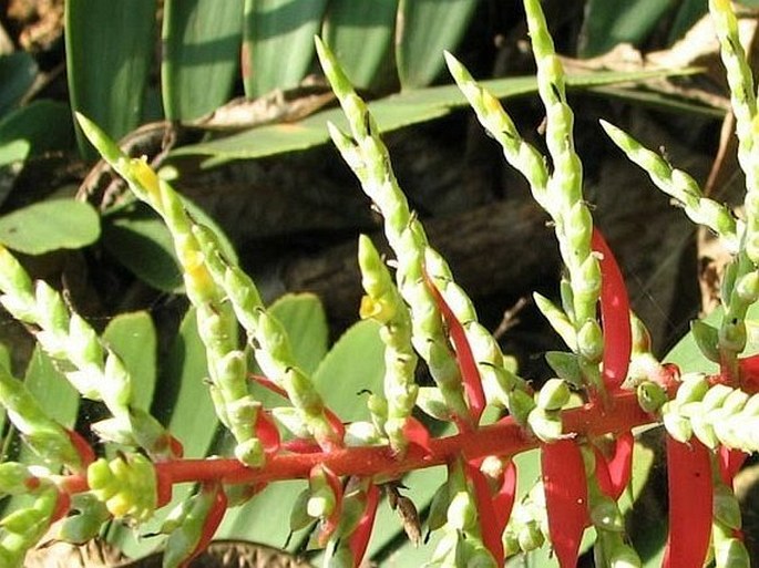
[(577, 442), (544, 444), (541, 468), (551, 544), (561, 568), (574, 568), (588, 524), (587, 477)]

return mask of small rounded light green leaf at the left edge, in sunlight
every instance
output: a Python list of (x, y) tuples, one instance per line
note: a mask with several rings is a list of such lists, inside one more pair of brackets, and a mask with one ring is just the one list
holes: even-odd
[(27, 255), (85, 247), (99, 236), (98, 213), (73, 199), (38, 202), (0, 217), (0, 242)]

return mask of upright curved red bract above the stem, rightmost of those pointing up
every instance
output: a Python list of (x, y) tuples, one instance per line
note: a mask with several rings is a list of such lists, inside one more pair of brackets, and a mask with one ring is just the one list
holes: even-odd
[(629, 299), (612, 249), (598, 229), (593, 229), (593, 250), (601, 254), (601, 321), (604, 327), (604, 384), (615, 391), (627, 376), (633, 345), (629, 323)]

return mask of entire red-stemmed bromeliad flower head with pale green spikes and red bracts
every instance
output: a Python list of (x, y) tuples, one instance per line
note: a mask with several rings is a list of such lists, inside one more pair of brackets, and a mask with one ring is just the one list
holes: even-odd
[[(759, 116), (736, 18), (727, 0), (710, 1), (747, 175), (742, 218), (604, 123), (630, 159), (734, 255), (722, 279), (721, 323), (693, 326), (700, 349), (719, 371), (680, 375), (653, 357), (643, 323), (630, 318), (619, 267), (583, 199), (561, 63), (539, 0), (524, 6), (551, 165), (520, 136), (499, 101), (458, 61), (447, 59), (480, 122), (527, 178), (555, 228), (566, 266), (562, 301), (558, 306), (535, 297), (568, 348), (546, 355), (555, 376), (533, 392), (478, 322), (472, 302), (409, 209), (375, 118), (319, 40), (321, 64), (349, 125), (346, 132), (330, 124), (330, 135), (382, 215), (396, 257), (393, 273), (371, 240), (359, 239), (366, 290), (360, 314), (380, 323), (386, 350), (383, 390), (368, 397), (371, 421), (343, 424), (325, 405), (311, 378), (298, 368), (283, 326), (250, 278), (222, 252), (217, 235), (187, 214), (181, 197), (144, 159), (126, 157), (79, 116), (93, 145), (161, 215), (174, 238), (207, 352), (208, 392), (234, 436), (234, 456), (183, 458), (181, 441), (132, 403), (130, 374), (120, 358), (59, 292), (32, 282), (21, 264), (0, 249), (0, 301), (34, 333), (82, 396), (104, 404), (110, 417), (92, 424), (92, 432), (119, 447), (110, 459), (96, 457), (84, 437), (49, 419), (23, 383), (0, 369), (0, 401), (24, 443), (49, 464), (0, 464), (0, 492), (31, 497), (31, 505), (0, 521), (1, 566), (21, 566), (27, 549), (53, 523), (53, 538), (82, 543), (113, 518), (144, 523), (168, 503), (174, 486), (194, 483), (196, 492), (161, 529), (167, 535), (164, 566), (186, 566), (213, 537), (227, 507), (267, 484), (301, 478), (308, 487), (296, 504), (293, 528), (315, 526), (311, 544), (326, 549), (326, 566), (357, 567), (371, 537), (380, 489), (433, 465), (445, 465), (448, 477), (425, 521), (429, 530), (442, 535), (429, 566), (503, 566), (509, 556), (548, 539), (566, 568), (576, 565), (588, 526), (596, 534), (596, 566), (640, 566), (625, 536), (618, 499), (630, 478), (632, 431), (656, 423), (667, 431), (670, 523), (664, 566), (698, 568), (708, 558), (718, 567), (748, 566), (732, 478), (745, 456), (759, 450), (759, 363), (741, 358), (747, 310), (759, 298)], [(236, 341), (238, 326), (245, 347)], [(252, 371), (254, 358), (260, 373)], [(433, 386), (414, 381), (418, 358)], [(252, 382), (289, 404), (264, 406), (252, 395)], [(505, 417), (485, 424), (486, 406)], [(417, 407), (458, 432), (431, 435), (414, 415)], [(535, 447), (542, 484), (515, 504), (519, 471), (513, 457)], [(408, 503), (388, 493), (413, 525)]]

